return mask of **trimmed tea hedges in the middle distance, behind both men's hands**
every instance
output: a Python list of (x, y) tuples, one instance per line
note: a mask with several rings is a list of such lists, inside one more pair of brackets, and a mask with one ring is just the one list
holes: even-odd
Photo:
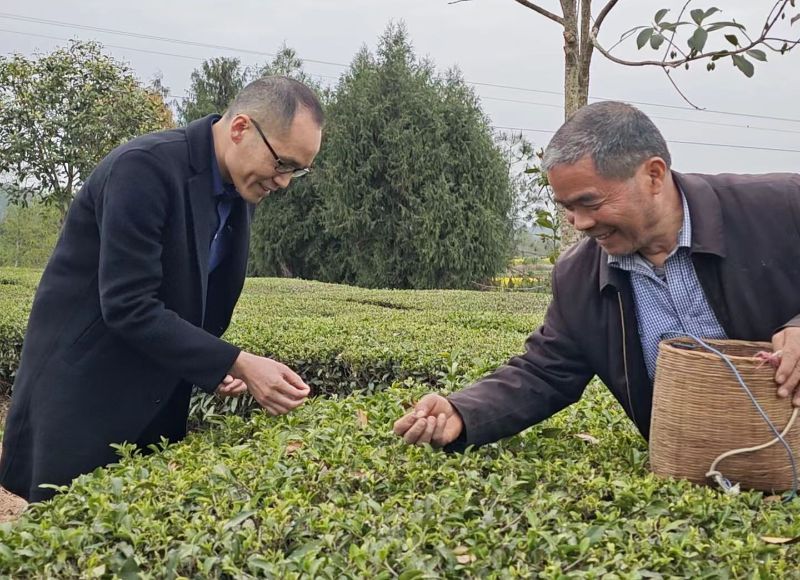
[[(16, 368), (37, 278), (33, 270), (0, 269), (0, 343), (8, 345), (0, 380), (6, 382), (9, 371), (2, 369)], [(249, 279), (226, 338), (298, 369), (316, 392), (376, 390), (408, 377), (436, 384), (519, 352), (548, 300)]]

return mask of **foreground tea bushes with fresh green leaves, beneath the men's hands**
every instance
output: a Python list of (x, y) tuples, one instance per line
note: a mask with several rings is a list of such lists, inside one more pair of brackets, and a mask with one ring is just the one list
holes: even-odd
[[(399, 387), (403, 388), (399, 388)], [(424, 389), (230, 417), (0, 526), (14, 577), (792, 578), (800, 506), (646, 470), (610, 397), (466, 455), (391, 424)], [(584, 441), (589, 433), (598, 443)]]

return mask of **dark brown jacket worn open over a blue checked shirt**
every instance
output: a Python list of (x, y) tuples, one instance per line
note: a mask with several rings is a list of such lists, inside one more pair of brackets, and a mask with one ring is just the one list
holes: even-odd
[[(691, 257), (729, 338), (769, 341), (800, 326), (800, 174), (673, 172), (692, 220)], [(642, 435), (652, 384), (626, 272), (586, 238), (553, 271), (553, 300), (526, 352), (450, 395), (465, 432), (450, 448), (514, 435), (580, 399), (597, 375)]]

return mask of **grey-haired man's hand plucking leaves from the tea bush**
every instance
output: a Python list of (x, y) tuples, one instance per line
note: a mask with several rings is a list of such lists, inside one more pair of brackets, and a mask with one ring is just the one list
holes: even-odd
[(463, 430), (464, 421), (455, 407), (435, 394), (422, 397), (413, 411), (394, 423), (394, 432), (410, 445), (444, 447), (458, 439)]

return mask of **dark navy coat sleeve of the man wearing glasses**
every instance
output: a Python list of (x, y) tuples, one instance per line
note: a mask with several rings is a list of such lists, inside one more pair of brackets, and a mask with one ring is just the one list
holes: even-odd
[(100, 308), (108, 328), (133, 348), (213, 391), (239, 349), (184, 320), (159, 298), (162, 233), (169, 212), (183, 211), (170, 207), (171, 188), (182, 185), (148, 151), (129, 150), (114, 160), (95, 205)]

